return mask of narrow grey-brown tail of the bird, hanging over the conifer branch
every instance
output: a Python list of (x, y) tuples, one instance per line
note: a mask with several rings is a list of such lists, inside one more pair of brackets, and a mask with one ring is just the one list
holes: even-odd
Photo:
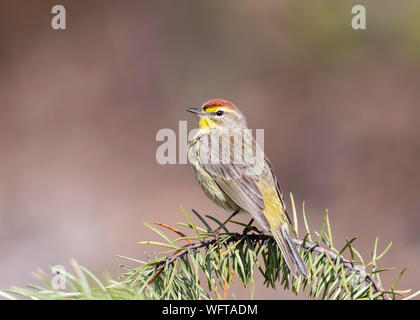
[(289, 267), (292, 274), (296, 277), (303, 276), (307, 277), (305, 264), (297, 251), (295, 244), (290, 238), (290, 234), (287, 226), (275, 228), (271, 230), (274, 239), (276, 240), (280, 251), (283, 254), (284, 260)]

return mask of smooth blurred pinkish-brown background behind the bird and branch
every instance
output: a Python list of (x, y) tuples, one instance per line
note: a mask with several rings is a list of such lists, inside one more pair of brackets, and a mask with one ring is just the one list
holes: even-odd
[(142, 222), (183, 221), (181, 204), (225, 217), (188, 165), (155, 160), (159, 129), (196, 127), (184, 108), (220, 97), (265, 129), (314, 228), (328, 208), (338, 244), (357, 236), (368, 258), (393, 241), (381, 266), (410, 265), (399, 287), (418, 290), (419, 81), (416, 0), (1, 0), (0, 288), (72, 257), (116, 277), (116, 254), (143, 259), (136, 242), (156, 239)]

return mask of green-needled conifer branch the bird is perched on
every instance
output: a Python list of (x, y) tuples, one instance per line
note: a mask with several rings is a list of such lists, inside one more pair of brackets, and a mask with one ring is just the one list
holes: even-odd
[(65, 277), (64, 290), (56, 289), (54, 278), (39, 271), (36, 276), (44, 282), (44, 286), (3, 290), (0, 296), (7, 299), (15, 299), (16, 296), (29, 299), (226, 299), (231, 296), (229, 289), (234, 278), (239, 278), (247, 287), (255, 283), (255, 272), (262, 274), (267, 287), (283, 287), (296, 295), (318, 299), (394, 300), (398, 297), (411, 299), (420, 294), (418, 291), (408, 296), (410, 290), (395, 289), (407, 268), (400, 272), (390, 289), (384, 289), (380, 274), (388, 269), (379, 268), (378, 261), (387, 253), (391, 244), (379, 253), (377, 239), (368, 263), (363, 262), (354, 247), (356, 238), (346, 239), (346, 245), (341, 249), (335, 248), (328, 212), (324, 215), (321, 230), (312, 232), (303, 206), (305, 234), (299, 238), (293, 197), (291, 201), (294, 218), (292, 230), (297, 237), (293, 241), (306, 264), (307, 278), (293, 277), (273, 237), (263, 234), (255, 226), (231, 221), (229, 228), (236, 224), (244, 227), (244, 231), (231, 232), (225, 226), (225, 232), (216, 236), (210, 225), (220, 225), (219, 220), (211, 216), (203, 217), (193, 210), (203, 225), (200, 227), (182, 209), (188, 223), (178, 225), (189, 232), (155, 222), (157, 226), (178, 236), (170, 239), (157, 227), (146, 223), (165, 242), (142, 241), (139, 244), (155, 245), (164, 248), (166, 252), (160, 256), (155, 253), (153, 258), (146, 253), (147, 261), (120, 257), (137, 266), (123, 265), (125, 272), (118, 281), (103, 283), (92, 272), (73, 261), (75, 274), (57, 272)]

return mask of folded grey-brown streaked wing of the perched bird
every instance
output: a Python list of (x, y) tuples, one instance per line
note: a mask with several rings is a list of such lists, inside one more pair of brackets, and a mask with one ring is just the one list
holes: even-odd
[[(235, 148), (232, 136), (221, 135), (218, 150), (200, 143), (200, 163), (233, 202), (251, 214), (263, 228), (269, 229), (264, 217), (264, 198), (257, 185), (258, 172), (251, 157), (242, 156), (243, 150), (256, 150), (258, 146), (252, 137), (244, 140), (242, 148)], [(227, 150), (229, 153), (224, 153)], [(228, 158), (223, 157), (226, 154)]]

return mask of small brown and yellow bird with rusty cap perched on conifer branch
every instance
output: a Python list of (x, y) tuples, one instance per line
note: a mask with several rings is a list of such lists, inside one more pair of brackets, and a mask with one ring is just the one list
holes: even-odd
[[(245, 116), (222, 99), (185, 110), (199, 118), (199, 129), (188, 143), (195, 177), (213, 202), (232, 212), (217, 233), (237, 213), (248, 213), (273, 234), (292, 274), (306, 277), (305, 264), (290, 237), (290, 218), (273, 167), (249, 132)], [(259, 164), (249, 156), (258, 152), (262, 154)]]

